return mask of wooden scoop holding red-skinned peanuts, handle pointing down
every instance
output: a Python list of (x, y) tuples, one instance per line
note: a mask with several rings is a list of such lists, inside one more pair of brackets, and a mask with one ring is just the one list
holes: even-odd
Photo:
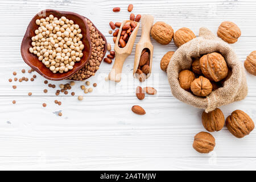
[(131, 33), (131, 36), (130, 36), (126, 46), (123, 48), (119, 47), (118, 43), (119, 43), (120, 35), (122, 32), (122, 27), (127, 22), (133, 22), (133, 21), (125, 20), (122, 22), (121, 27), (118, 32), (117, 40), (115, 41), (115, 47), (114, 47), (115, 62), (114, 62), (112, 70), (109, 73), (109, 80), (112, 80), (115, 82), (121, 81), (123, 63), (125, 63), (126, 58), (131, 54), (131, 51), (133, 49), (133, 45), (135, 42), (135, 38), (137, 36), (137, 32), (139, 29), (139, 23), (134, 22), (136, 24), (136, 27), (134, 28), (133, 32)]

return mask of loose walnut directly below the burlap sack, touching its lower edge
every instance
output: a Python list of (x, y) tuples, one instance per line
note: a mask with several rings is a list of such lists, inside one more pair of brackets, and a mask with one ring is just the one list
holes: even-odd
[(202, 114), (202, 123), (207, 131), (220, 131), (225, 124), (225, 117), (222, 111), (216, 108), (209, 113)]

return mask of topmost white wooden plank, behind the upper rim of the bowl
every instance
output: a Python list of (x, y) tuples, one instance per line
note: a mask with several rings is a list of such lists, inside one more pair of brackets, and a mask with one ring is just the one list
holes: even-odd
[[(28, 22), (44, 9), (73, 11), (91, 19), (94, 24), (108, 35), (109, 22), (129, 19), (127, 6), (130, 1), (2, 1), (0, 7), (0, 35), (23, 36)], [(208, 27), (216, 32), (224, 20), (231, 20), (240, 26), (242, 36), (255, 36), (255, 1), (135, 1), (134, 14), (152, 14), (155, 21), (169, 23), (174, 30), (181, 27), (191, 28), (196, 35), (200, 27)], [(113, 13), (113, 7), (121, 7), (120, 13)], [(6, 26), (9, 22), (13, 26)], [(139, 33), (140, 35), (140, 33)]]

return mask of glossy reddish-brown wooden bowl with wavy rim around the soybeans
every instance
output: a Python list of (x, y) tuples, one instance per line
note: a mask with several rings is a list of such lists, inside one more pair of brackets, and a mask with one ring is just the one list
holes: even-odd
[[(35, 36), (35, 30), (37, 30), (39, 27), (35, 23), (35, 20), (40, 18), (46, 18), (50, 14), (52, 14), (57, 18), (61, 18), (61, 16), (65, 16), (67, 19), (73, 20), (74, 23), (78, 24), (82, 30), (81, 41), (84, 44), (84, 50), (82, 51), (83, 56), (81, 57), (81, 60), (79, 62), (75, 63), (75, 65), (73, 66), (73, 69), (69, 70), (68, 72), (52, 73), (52, 71), (50, 71), (50, 69), (47, 68), (42, 63), (42, 61), (38, 60), (38, 56), (34, 55), (34, 53), (30, 53), (28, 50), (31, 47), (31, 43), (32, 43), (31, 38), (32, 36)], [(89, 33), (88, 25), (85, 22), (84, 17), (76, 13), (72, 13), (68, 11), (48, 10), (48, 9), (40, 11), (38, 14), (34, 16), (34, 18), (32, 18), (30, 24), (28, 24), (27, 31), (22, 40), (20, 52), (25, 63), (27, 63), (31, 68), (35, 69), (35, 71), (38, 72), (43, 77), (49, 80), (55, 80), (55, 81), (64, 80), (66, 78), (69, 78), (76, 71), (79, 71), (79, 69), (81, 69), (85, 65), (85, 63), (90, 59), (92, 47), (90, 45), (90, 33)]]

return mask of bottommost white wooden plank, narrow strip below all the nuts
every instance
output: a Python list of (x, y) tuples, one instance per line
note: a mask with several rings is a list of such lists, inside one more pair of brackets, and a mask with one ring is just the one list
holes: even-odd
[(39, 152), (36, 157), (0, 157), (1, 170), (251, 170), (255, 158), (130, 158), (81, 156), (48, 156)]

